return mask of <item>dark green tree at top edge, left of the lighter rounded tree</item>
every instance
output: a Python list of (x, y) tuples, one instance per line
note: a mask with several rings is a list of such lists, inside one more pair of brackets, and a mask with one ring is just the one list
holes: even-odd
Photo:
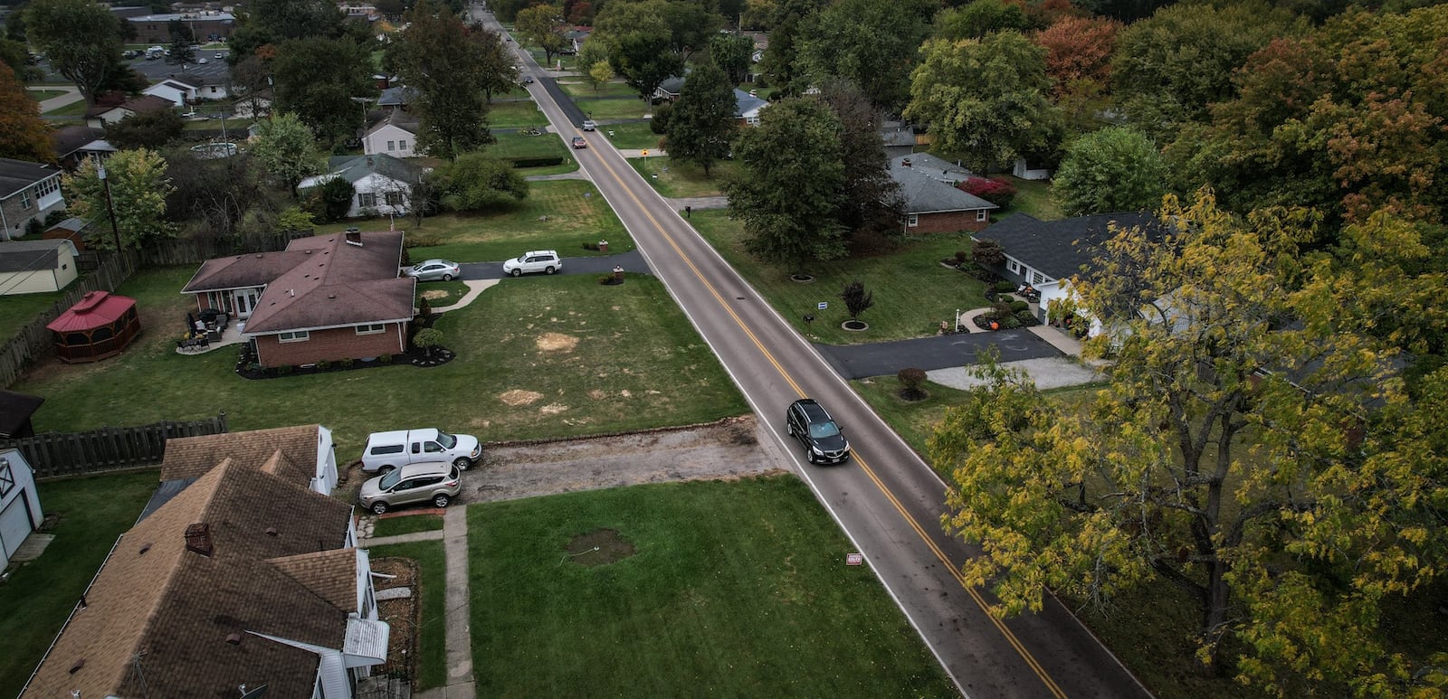
[(844, 78), (876, 107), (898, 111), (938, 7), (934, 0), (838, 0), (804, 25), (799, 59), (815, 84)]

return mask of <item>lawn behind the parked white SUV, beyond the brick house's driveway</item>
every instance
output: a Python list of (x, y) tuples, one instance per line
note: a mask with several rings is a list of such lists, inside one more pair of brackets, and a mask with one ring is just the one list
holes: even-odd
[[(586, 194), (586, 195), (585, 195)], [(547, 220), (542, 220), (542, 217)], [(333, 233), (348, 226), (387, 230), (388, 220), (345, 221), (317, 226), (319, 233)], [(442, 214), (413, 227), (413, 221), (398, 221), (407, 230), (408, 258), (416, 263), (429, 258), (453, 262), (502, 262), (526, 250), (555, 249), (565, 258), (602, 255), (585, 250), (584, 243), (608, 240), (608, 252), (634, 247), (623, 221), (598, 194), (592, 182), (556, 179), (529, 182), (529, 198), (505, 211), (487, 214)], [(427, 287), (432, 287), (429, 282)], [(440, 304), (439, 304), (440, 305)]]

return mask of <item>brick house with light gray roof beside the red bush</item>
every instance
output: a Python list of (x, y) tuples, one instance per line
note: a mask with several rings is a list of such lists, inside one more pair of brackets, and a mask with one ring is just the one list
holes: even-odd
[(995, 204), (956, 187), (970, 171), (930, 153), (891, 159), (891, 178), (905, 200), (906, 233), (956, 233), (990, 224)]

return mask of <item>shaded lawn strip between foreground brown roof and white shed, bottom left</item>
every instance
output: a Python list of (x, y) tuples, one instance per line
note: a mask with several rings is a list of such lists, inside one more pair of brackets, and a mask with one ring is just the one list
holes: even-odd
[(0, 638), (6, 640), (0, 695), (20, 693), (116, 537), (136, 522), (156, 478), (156, 470), (140, 470), (39, 483), (41, 507), (59, 520), (45, 553), (0, 585)]

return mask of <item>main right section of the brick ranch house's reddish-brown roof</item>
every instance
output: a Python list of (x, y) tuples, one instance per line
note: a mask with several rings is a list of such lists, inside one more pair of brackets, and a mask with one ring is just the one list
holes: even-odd
[(287, 250), (308, 256), (266, 285), (246, 321), (248, 333), (395, 323), (413, 317), (416, 282), (397, 275), (401, 233), (362, 233), (361, 246), (346, 243), (342, 233), (301, 237)]

